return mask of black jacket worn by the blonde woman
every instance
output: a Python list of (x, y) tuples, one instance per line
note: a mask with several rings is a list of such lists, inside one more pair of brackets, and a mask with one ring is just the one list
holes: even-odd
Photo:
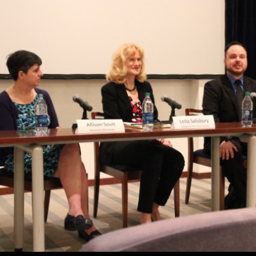
[[(140, 83), (139, 81), (135, 81), (135, 84), (141, 104), (145, 99), (145, 93), (150, 93), (150, 98), (154, 103), (154, 119), (157, 120), (158, 111), (155, 106), (155, 98), (151, 85), (148, 82)], [(124, 122), (132, 123), (133, 109), (124, 84), (108, 83), (102, 87), (101, 94), (105, 119), (122, 119)], [(117, 142), (101, 143), (100, 158), (103, 164), (111, 163), (115, 146), (117, 146)]]

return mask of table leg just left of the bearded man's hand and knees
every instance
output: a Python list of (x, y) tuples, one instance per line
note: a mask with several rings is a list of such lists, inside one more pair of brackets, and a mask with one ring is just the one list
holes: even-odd
[(212, 137), (212, 211), (220, 210), (220, 138)]

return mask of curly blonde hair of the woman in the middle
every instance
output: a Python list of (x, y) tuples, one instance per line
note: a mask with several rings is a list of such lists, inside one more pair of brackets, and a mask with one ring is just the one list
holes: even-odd
[(136, 76), (136, 79), (143, 83), (147, 79), (144, 63), (144, 51), (143, 49), (136, 44), (124, 44), (122, 45), (113, 57), (113, 64), (108, 70), (106, 78), (109, 82), (114, 82), (116, 84), (124, 84), (127, 80), (127, 68), (125, 62), (129, 57), (139, 51), (142, 59), (142, 67), (140, 74)]

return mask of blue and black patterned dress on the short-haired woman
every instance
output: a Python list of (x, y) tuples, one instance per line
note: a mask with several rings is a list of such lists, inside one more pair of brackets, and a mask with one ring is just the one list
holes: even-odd
[[(15, 106), (19, 109), (22, 114), (19, 114), (17, 118), (18, 130), (35, 130), (35, 105), (38, 100), (38, 95), (36, 95), (35, 100), (27, 105), (21, 105), (15, 103)], [(50, 116), (48, 116), (48, 125), (50, 125)], [(44, 152), (44, 176), (52, 179), (57, 171), (59, 157), (62, 148), (65, 145), (53, 145), (53, 146), (43, 146)], [(5, 161), (5, 169), (9, 172), (14, 172), (14, 155), (8, 155)], [(32, 157), (27, 152), (24, 157), (24, 169), (25, 173), (32, 172)]]

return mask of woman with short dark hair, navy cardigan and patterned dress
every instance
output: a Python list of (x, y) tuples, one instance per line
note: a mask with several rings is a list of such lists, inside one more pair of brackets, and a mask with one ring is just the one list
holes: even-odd
[[(42, 60), (35, 53), (18, 51), (11, 54), (7, 67), (14, 84), (0, 94), (0, 131), (35, 130), (35, 105), (38, 95), (43, 94), (48, 109), (50, 129), (60, 129), (49, 93), (38, 89), (43, 73)], [(65, 229), (78, 230), (86, 241), (99, 236), (93, 226), (87, 208), (87, 175), (81, 159), (79, 144), (43, 146), (44, 176), (59, 178), (69, 204)], [(0, 148), (0, 166), (14, 172), (13, 148)], [(31, 173), (31, 155), (24, 158), (25, 172)]]

